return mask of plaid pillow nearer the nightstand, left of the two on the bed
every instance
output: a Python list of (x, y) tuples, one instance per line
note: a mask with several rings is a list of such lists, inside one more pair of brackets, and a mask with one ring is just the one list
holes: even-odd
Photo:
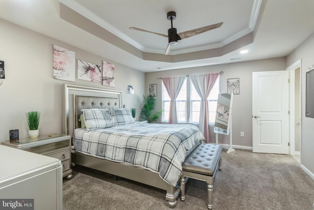
[(82, 109), (87, 130), (97, 130), (113, 126), (108, 109)]

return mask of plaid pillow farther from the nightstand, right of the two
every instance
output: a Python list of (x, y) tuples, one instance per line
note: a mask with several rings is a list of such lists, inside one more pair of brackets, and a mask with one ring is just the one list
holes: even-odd
[(134, 123), (130, 109), (110, 109), (110, 114), (114, 122), (114, 126), (128, 125)]

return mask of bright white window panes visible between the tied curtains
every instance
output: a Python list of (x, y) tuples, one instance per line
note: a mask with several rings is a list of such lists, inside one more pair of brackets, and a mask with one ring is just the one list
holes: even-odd
[[(209, 125), (213, 125), (216, 116), (217, 99), (219, 94), (219, 79), (210, 91), (208, 100)], [(177, 116), (179, 123), (198, 124), (200, 119), (201, 98), (194, 88), (194, 85), (187, 77), (183, 83), (180, 93), (177, 97)], [(162, 84), (162, 121), (168, 122), (170, 97)]]

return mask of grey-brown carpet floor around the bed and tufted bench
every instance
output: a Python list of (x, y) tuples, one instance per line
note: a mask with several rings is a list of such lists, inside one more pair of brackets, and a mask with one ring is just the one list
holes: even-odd
[[(214, 210), (314, 210), (314, 180), (291, 155), (223, 150), (214, 180)], [(170, 210), (166, 192), (82, 166), (63, 181), (64, 210)], [(188, 180), (175, 209), (206, 210), (207, 185)]]

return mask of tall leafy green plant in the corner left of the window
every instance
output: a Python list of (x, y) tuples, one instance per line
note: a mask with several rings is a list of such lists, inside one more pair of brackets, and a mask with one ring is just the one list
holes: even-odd
[(152, 114), (152, 110), (155, 108), (156, 105), (156, 98), (154, 95), (148, 95), (145, 97), (143, 95), (144, 105), (141, 109), (140, 118), (147, 120), (148, 123), (158, 120), (159, 116), (162, 113), (162, 110), (159, 110)]

